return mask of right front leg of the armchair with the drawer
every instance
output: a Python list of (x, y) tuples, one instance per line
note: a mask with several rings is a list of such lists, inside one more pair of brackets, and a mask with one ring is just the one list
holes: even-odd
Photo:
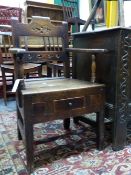
[(104, 110), (96, 113), (96, 124), (97, 148), (102, 150), (104, 147)]

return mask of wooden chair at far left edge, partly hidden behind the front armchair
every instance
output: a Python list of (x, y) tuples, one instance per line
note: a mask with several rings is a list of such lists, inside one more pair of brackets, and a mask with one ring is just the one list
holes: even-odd
[[(11, 89), (14, 84), (14, 59), (12, 53), (9, 51), (13, 47), (12, 43), (12, 31), (10, 25), (0, 25), (0, 35), (2, 42), (0, 44), (2, 57), (1, 57), (1, 72), (2, 72), (2, 84), (3, 84), (3, 98), (4, 103), (7, 105), (7, 95), (12, 94)], [(35, 63), (24, 64), (24, 74), (29, 77), (33, 72), (37, 72), (39, 76), (42, 76), (42, 65)]]

